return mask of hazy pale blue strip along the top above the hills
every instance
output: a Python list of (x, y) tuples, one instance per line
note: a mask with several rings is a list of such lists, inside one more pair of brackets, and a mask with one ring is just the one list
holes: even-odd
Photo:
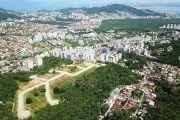
[(67, 7), (93, 7), (107, 4), (138, 5), (149, 3), (180, 2), (179, 0), (0, 0), (0, 7), (16, 12), (58, 10)]

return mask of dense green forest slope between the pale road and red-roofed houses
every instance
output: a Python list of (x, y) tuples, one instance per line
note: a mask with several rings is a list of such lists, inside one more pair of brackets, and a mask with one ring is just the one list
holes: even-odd
[(59, 94), (63, 103), (47, 105), (28, 120), (98, 120), (101, 104), (118, 85), (138, 83), (141, 76), (116, 64), (83, 74), (75, 85), (64, 85)]

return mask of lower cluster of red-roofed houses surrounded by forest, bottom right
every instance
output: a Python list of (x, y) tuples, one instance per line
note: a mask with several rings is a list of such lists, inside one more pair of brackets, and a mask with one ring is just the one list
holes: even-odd
[(114, 110), (120, 109), (127, 111), (130, 117), (142, 118), (148, 113), (147, 106), (155, 107), (154, 89), (154, 83), (147, 80), (136, 85), (118, 86), (104, 100), (103, 104), (109, 104), (110, 107), (107, 114), (113, 115)]

